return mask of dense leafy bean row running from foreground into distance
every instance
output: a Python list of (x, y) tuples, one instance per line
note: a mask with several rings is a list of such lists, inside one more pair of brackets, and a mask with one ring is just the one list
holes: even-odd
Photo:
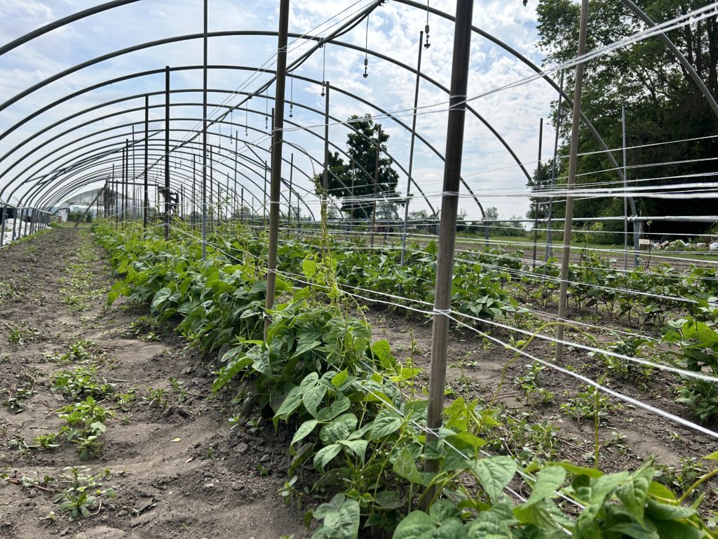
[[(309, 285), (278, 277), (277, 303), (266, 313), (264, 247), (241, 231), (213, 238), (219, 248), (204, 262), (192, 239), (107, 224), (95, 233), (121, 276), (109, 302), (126, 295), (149, 304), (190, 343), (221, 349), (214, 390), (251, 382), (247, 398), (271, 410), (266, 426), (291, 430), (287, 486), (333, 494), (313, 511), (314, 538), (714, 537), (699, 502), (684, 504), (707, 476), (676, 497), (653, 480), (650, 463), (612, 474), (568, 462), (522, 469), (509, 456), (482, 453), (493, 419), (476, 401), (454, 400), (438, 440), (427, 444), (419, 369), (397, 361), (388, 342), (372, 342), (368, 324), (350, 315), (337, 286), (345, 261), (327, 244), (309, 253), (297, 245), (291, 256), (302, 258)], [(438, 461), (439, 471), (422, 471), (424, 459)], [(506, 494), (519, 486), (530, 492), (521, 502)], [(416, 509), (423, 506), (429, 510)]]

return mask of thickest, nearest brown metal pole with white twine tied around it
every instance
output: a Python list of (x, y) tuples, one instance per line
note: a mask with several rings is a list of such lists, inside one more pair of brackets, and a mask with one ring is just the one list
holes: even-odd
[[(447, 318), (447, 315), (451, 309), (454, 243), (456, 241), (456, 216), (459, 208), (459, 182), (464, 147), (466, 89), (469, 74), (473, 7), (473, 0), (457, 0), (456, 19), (454, 19), (454, 52), (447, 146), (444, 154), (446, 160), (444, 162), (444, 188), (442, 192), (442, 222), (439, 231), (437, 281), (434, 291), (432, 363), (429, 377), (429, 410), (426, 415), (426, 443), (437, 440), (437, 433), (442, 425), (442, 413), (444, 411), (447, 346), (449, 344), (449, 318)], [(436, 472), (439, 470), (439, 461), (427, 460), (424, 468), (426, 471)], [(430, 487), (424, 493), (424, 509), (428, 508), (435, 493), (435, 486)]]

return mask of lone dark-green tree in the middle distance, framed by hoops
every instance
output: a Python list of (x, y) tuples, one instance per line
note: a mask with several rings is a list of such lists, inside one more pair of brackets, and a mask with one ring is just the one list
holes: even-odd
[[(347, 136), (347, 154), (349, 162), (345, 163), (339, 152), (329, 155), (329, 178), (327, 190), (335, 198), (343, 198), (342, 212), (351, 218), (370, 218), (373, 212), (374, 193), (378, 197), (395, 198), (398, 174), (391, 168), (391, 159), (381, 157), (386, 153), (386, 142), (389, 135), (379, 129), (371, 116), (350, 116), (348, 119), (352, 130)], [(375, 187), (376, 172), (376, 141), (379, 137), (381, 152), (379, 157), (379, 175)], [(314, 177), (317, 185), (322, 185), (323, 172)]]

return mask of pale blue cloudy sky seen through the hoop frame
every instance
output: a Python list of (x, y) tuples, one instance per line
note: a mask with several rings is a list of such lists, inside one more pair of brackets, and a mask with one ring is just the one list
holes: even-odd
[[(95, 4), (90, 1), (79, 0), (4, 0), (0, 4), (0, 19), (4, 24), (0, 27), (0, 42), (7, 42), (32, 29), (47, 24), (52, 20), (65, 17), (67, 14), (86, 9)], [(290, 32), (299, 34), (326, 34), (331, 24), (334, 24), (342, 17), (361, 6), (368, 4), (368, 1), (293, 1), (292, 16), (290, 19)], [(541, 63), (541, 52), (536, 48), (536, 2), (530, 0), (528, 6), (523, 7), (521, 0), (482, 0), (476, 1), (474, 7), (474, 24), (486, 32), (504, 40), (508, 45), (526, 55), (534, 63)], [(210, 32), (225, 30), (265, 30), (276, 31), (278, 19), (277, 1), (258, 0), (228, 1), (210, 0)], [(454, 13), (455, 5), (451, 1), (432, 1), (431, 6), (450, 14)], [(388, 1), (378, 8), (370, 16), (368, 27), (368, 46), (383, 54), (386, 54), (407, 65), (416, 65), (416, 54), (418, 50), (419, 31), (424, 29), (426, 24), (426, 11), (416, 9), (395, 1)], [(440, 19), (434, 15), (429, 17), (431, 26), (430, 41), (431, 47), (423, 51), (422, 72), (437, 80), (444, 86), (449, 86), (451, 75), (451, 51), (453, 40), (453, 24)], [(103, 55), (113, 50), (129, 47), (141, 42), (159, 40), (165, 37), (177, 36), (202, 31), (202, 2), (199, 0), (141, 0), (135, 4), (129, 4), (121, 8), (106, 11), (83, 21), (78, 21), (55, 32), (40, 37), (37, 40), (19, 47), (0, 57), (0, 96), (2, 101), (11, 98), (19, 91), (37, 81), (54, 75), (66, 68), (81, 63), (98, 55)], [(342, 41), (363, 47), (366, 34), (365, 24), (360, 24), (349, 34), (341, 38)], [(272, 56), (276, 50), (275, 37), (222, 37), (210, 40), (209, 63), (221, 65), (246, 65), (251, 70), (213, 70), (210, 71), (208, 86), (210, 88), (243, 88), (246, 91), (254, 91), (260, 83), (266, 80), (266, 75), (256, 73), (253, 70), (266, 65), (273, 67)], [(290, 50), (290, 60), (307, 50), (307, 42), (297, 40)], [(65, 96), (67, 93), (86, 88), (94, 83), (109, 80), (117, 76), (134, 73), (143, 70), (164, 68), (164, 65), (200, 65), (202, 62), (202, 42), (193, 40), (172, 45), (163, 45), (154, 49), (141, 50), (129, 55), (113, 58), (99, 65), (70, 75), (70, 77), (51, 83), (18, 103), (10, 106), (0, 114), (0, 127), (2, 131), (9, 126), (30, 114), (41, 106)], [(387, 111), (406, 111), (411, 109), (414, 97), (414, 75), (391, 63), (380, 60), (376, 57), (369, 58), (368, 78), (363, 78), (363, 52), (355, 50), (344, 50), (337, 45), (328, 45), (326, 50), (326, 63), (324, 66), (325, 77), (330, 80), (332, 86), (345, 88), (348, 91), (357, 93), (366, 100), (376, 103)], [(322, 54), (315, 53), (302, 67), (297, 70), (297, 75), (307, 78), (322, 80)], [(521, 79), (531, 71), (521, 62), (511, 57), (499, 47), (493, 45), (479, 36), (472, 39), (472, 59), (469, 83), (470, 96), (477, 96), (486, 91), (498, 88), (507, 83)], [(201, 88), (201, 70), (187, 70), (182, 73), (172, 74), (172, 88)], [(144, 93), (147, 91), (161, 91), (164, 88), (164, 75), (151, 75), (144, 78), (136, 78), (101, 90), (85, 93), (83, 96), (73, 98), (62, 106), (55, 107), (37, 119), (29, 121), (16, 132), (10, 134), (0, 141), (0, 155), (4, 155), (15, 144), (22, 142), (27, 137), (36, 133), (39, 129), (45, 128), (52, 122), (65, 118), (75, 111), (80, 111), (88, 106), (102, 103), (123, 96)], [(287, 88), (289, 97), (289, 88)], [(272, 90), (270, 90), (270, 95)], [(305, 103), (315, 109), (323, 109), (324, 98), (320, 96), (320, 88), (316, 85), (304, 82), (295, 82), (293, 95), (296, 101)], [(230, 96), (230, 103), (238, 103), (236, 96)], [(219, 103), (227, 98), (226, 94), (210, 94), (210, 103)], [(550, 111), (550, 103), (555, 99), (555, 92), (543, 81), (535, 81), (525, 86), (500, 91), (485, 98), (472, 102), (472, 106), (485, 116), (485, 119), (505, 137), (513, 147), (522, 162), (526, 162), (526, 168), (531, 171), (536, 166), (538, 151), (538, 123), (543, 116), (547, 118)], [(161, 96), (151, 98), (152, 105), (162, 103)], [(201, 100), (198, 93), (173, 94), (173, 103), (185, 103), (187, 101)], [(434, 103), (444, 103), (447, 95), (430, 83), (422, 82), (419, 93), (419, 106), (427, 106)], [(68, 126), (80, 124), (82, 121), (97, 118), (111, 112), (131, 107), (141, 107), (144, 103), (142, 98), (132, 101), (124, 101), (121, 105), (106, 106), (98, 111), (83, 115), (80, 119), (65, 122), (61, 127), (51, 129), (40, 137), (30, 142), (21, 152), (28, 149), (41, 148), (42, 151), (54, 149), (69, 142), (67, 137), (60, 137), (56, 141), (50, 139), (67, 129)], [(258, 111), (265, 110), (264, 100), (254, 98), (250, 106)], [(269, 104), (271, 108), (271, 103)], [(439, 106), (432, 111), (439, 110), (435, 114), (422, 114), (417, 119), (419, 133), (429, 142), (434, 144), (439, 151), (443, 152), (446, 137), (445, 106)], [(210, 107), (210, 111), (212, 108)], [(341, 96), (340, 93), (332, 93), (330, 104), (331, 114), (341, 119), (350, 114), (376, 114), (376, 110), (357, 103), (353, 99)], [(173, 106), (174, 117), (199, 118), (201, 109), (196, 106)], [(216, 113), (214, 113), (216, 114)], [(233, 120), (243, 123), (244, 114), (233, 114)], [(210, 115), (210, 117), (212, 117)], [(258, 142), (268, 147), (264, 132), (264, 118), (258, 114), (250, 114), (249, 124), (259, 132), (249, 132), (246, 140)], [(136, 111), (131, 114), (119, 114), (97, 122), (92, 126), (83, 127), (75, 132), (78, 134), (90, 134), (98, 129), (109, 129), (113, 126), (126, 124), (131, 121), (141, 121), (144, 113)], [(164, 125), (164, 110), (161, 108), (152, 109), (151, 126), (159, 128)], [(403, 121), (411, 123), (410, 115), (402, 116)], [(162, 121), (160, 121), (162, 120)], [(323, 119), (317, 114), (294, 109), (294, 117), (302, 126), (314, 126), (311, 130), (317, 134), (323, 134), (320, 127)], [(386, 132), (391, 135), (388, 148), (397, 160), (407, 166), (409, 161), (409, 134), (390, 119), (378, 120)], [(196, 129), (196, 121), (173, 121), (172, 127), (181, 129)], [(108, 131), (96, 139), (108, 137), (111, 134), (118, 134), (127, 131)], [(138, 125), (137, 129), (141, 129)], [(223, 126), (226, 134), (229, 126)], [(239, 129), (240, 144), (244, 137), (243, 129)], [(139, 133), (137, 134), (139, 137)], [(332, 142), (344, 147), (346, 130), (342, 126), (331, 126), (330, 137)], [(553, 147), (554, 133), (550, 126), (544, 131), (544, 158)], [(214, 137), (218, 140), (217, 137)], [(321, 140), (295, 130), (286, 135), (289, 142), (294, 142), (304, 148), (309, 154), (322, 160)], [(88, 144), (78, 142), (70, 145), (67, 149), (58, 152), (57, 155), (67, 152), (70, 149), (80, 149)], [(117, 140), (117, 139), (116, 139)], [(62, 141), (62, 142), (61, 142)], [(109, 143), (109, 142), (108, 142)], [(106, 144), (108, 144), (106, 143)], [(97, 147), (102, 144), (98, 143)], [(226, 142), (225, 142), (226, 146)], [(285, 149), (285, 156), (289, 157), (290, 150)], [(10, 156), (0, 162), (0, 173), (6, 172), (0, 183), (6, 182), (9, 178), (19, 177), (22, 179), (36, 178), (37, 175), (45, 174), (49, 168), (47, 162), (40, 162), (31, 167), (27, 172), (22, 170), (34, 162), (39, 155), (33, 154), (22, 165), (6, 170), (19, 157), (17, 154)], [(266, 154), (265, 154), (266, 155)], [(432, 203), (438, 206), (439, 193), (442, 183), (442, 162), (424, 146), (417, 143), (416, 157), (414, 164), (414, 178), (421, 187), (429, 194)], [(309, 175), (312, 174), (312, 164), (302, 152), (295, 152), (295, 163), (299, 164)], [(68, 156), (62, 162), (71, 162), (72, 156)], [(220, 159), (220, 162), (222, 160)], [(496, 206), (503, 216), (513, 214), (519, 215), (526, 212), (526, 198), (502, 197), (502, 193), (516, 192), (522, 190), (526, 185), (526, 178), (515, 166), (516, 162), (508, 152), (493, 137), (492, 134), (479, 121), (469, 117), (466, 126), (465, 137), (465, 158), (462, 173), (468, 183), (475, 190), (484, 206)], [(137, 166), (140, 167), (138, 155)], [(221, 172), (220, 165), (218, 173)], [(316, 163), (314, 167), (316, 167)], [(52, 167), (50, 167), (52, 168)], [(225, 167), (226, 168), (226, 167)], [(493, 171), (493, 172), (488, 172)], [(20, 174), (22, 172), (22, 174)], [(248, 175), (257, 177), (257, 171), (247, 170)], [(285, 174), (286, 176), (286, 174)], [(297, 175), (299, 176), (299, 175)], [(310, 189), (309, 182), (299, 176), (295, 176), (295, 182), (305, 190)], [(101, 185), (97, 182), (90, 187)], [(399, 188), (403, 192), (406, 189), (406, 175), (400, 173)], [(251, 185), (246, 185), (247, 190), (256, 190)], [(15, 190), (14, 198), (22, 195), (24, 188)], [(8, 191), (3, 195), (7, 198)], [(310, 204), (316, 206), (313, 197), (309, 196)], [(461, 208), (464, 209), (470, 218), (477, 218), (479, 213), (475, 203), (470, 198), (462, 198)], [(426, 204), (414, 199), (412, 209), (424, 209)]]

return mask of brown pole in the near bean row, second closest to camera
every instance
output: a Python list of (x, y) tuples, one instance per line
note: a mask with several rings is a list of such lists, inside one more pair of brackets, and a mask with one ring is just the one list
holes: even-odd
[[(276, 83), (274, 90), (274, 126), (271, 134), (271, 184), (269, 193), (269, 245), (267, 248), (266, 310), (274, 307), (276, 290), (276, 254), (279, 241), (279, 193), (281, 190), (281, 151), (284, 132), (284, 90), (286, 87), (286, 41), (289, 31), (289, 0), (279, 3), (279, 34), (277, 35)], [(271, 320), (264, 318), (264, 338)]]

